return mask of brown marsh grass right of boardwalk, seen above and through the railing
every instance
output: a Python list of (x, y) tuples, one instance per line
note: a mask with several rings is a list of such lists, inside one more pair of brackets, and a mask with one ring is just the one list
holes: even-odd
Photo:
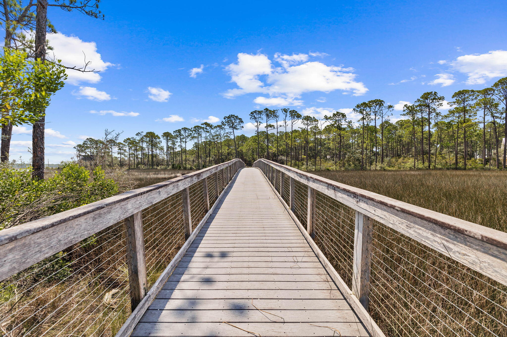
[[(322, 171), (316, 174), (507, 230), (504, 214), (507, 172)], [(297, 204), (301, 204), (296, 209), (304, 210), (303, 197), (296, 196)], [(354, 213), (317, 192), (315, 241), (349, 287), (352, 285)], [(300, 216), (306, 221), (305, 214)], [(377, 221), (374, 221), (371, 287), (370, 313), (388, 336), (507, 336), (507, 287)]]

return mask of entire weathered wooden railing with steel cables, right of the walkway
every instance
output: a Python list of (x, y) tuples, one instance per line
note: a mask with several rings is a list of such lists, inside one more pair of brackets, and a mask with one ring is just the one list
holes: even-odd
[(265, 159), (253, 166), (363, 321), (389, 336), (507, 336), (507, 233)]

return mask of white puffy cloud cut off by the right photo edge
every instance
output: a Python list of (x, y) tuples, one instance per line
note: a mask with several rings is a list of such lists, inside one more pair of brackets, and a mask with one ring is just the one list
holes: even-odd
[(466, 84), (483, 84), (492, 78), (507, 76), (507, 51), (463, 55), (450, 62), (450, 65), (452, 69), (468, 76)]

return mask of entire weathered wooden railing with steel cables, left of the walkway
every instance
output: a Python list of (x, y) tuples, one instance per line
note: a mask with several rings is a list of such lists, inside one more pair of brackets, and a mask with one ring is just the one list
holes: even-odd
[(242, 167), (234, 159), (0, 231), (2, 335), (128, 335)]

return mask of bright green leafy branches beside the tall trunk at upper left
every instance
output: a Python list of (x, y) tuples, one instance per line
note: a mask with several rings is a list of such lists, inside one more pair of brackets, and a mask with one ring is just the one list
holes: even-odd
[(57, 64), (29, 60), (25, 52), (6, 49), (0, 57), (0, 123), (38, 121), (66, 77)]

